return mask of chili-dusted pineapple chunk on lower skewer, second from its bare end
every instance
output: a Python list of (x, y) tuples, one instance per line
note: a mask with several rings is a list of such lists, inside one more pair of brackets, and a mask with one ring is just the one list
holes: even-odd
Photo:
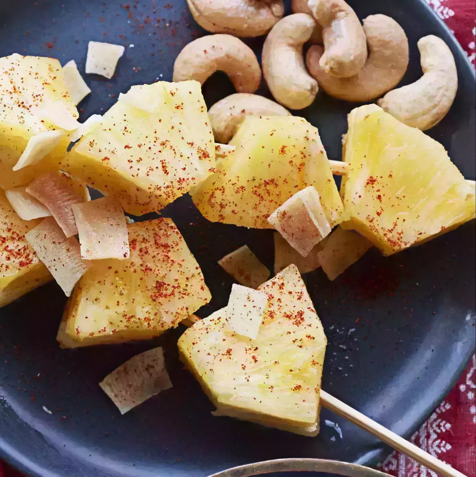
[(76, 285), (57, 337), (62, 347), (149, 339), (210, 301), (172, 219), (127, 228), (130, 258), (94, 261)]

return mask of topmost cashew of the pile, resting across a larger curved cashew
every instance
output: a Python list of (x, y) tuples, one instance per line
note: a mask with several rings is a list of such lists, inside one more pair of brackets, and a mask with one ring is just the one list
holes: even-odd
[(323, 27), (321, 68), (338, 77), (357, 74), (367, 60), (367, 43), (354, 10), (344, 0), (309, 0), (307, 4)]

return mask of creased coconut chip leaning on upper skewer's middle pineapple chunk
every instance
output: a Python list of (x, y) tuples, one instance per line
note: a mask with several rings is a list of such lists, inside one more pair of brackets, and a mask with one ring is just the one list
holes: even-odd
[(268, 222), (303, 257), (331, 233), (319, 193), (312, 186), (286, 200), (268, 217)]

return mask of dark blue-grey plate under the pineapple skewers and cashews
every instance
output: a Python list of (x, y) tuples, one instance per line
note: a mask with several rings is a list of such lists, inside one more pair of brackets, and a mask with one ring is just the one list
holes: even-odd
[[(123, 1), (123, 3), (121, 3)], [(91, 95), (82, 118), (103, 113), (132, 84), (170, 81), (175, 57), (204, 32), (185, 0), (15, 0), (0, 2), (0, 55), (74, 59), (84, 71), (90, 40), (121, 43), (125, 55), (110, 81), (84, 75)], [(475, 178), (475, 77), (441, 21), (419, 0), (351, 1), (362, 19), (385, 13), (405, 29), (410, 65), (421, 75), (416, 41), (443, 38), (456, 59), (459, 89), (445, 119), (428, 134), (466, 178)], [(289, 4), (287, 5), (289, 8)], [(246, 41), (260, 52), (263, 38)], [(233, 93), (223, 74), (203, 87), (210, 106)], [(260, 93), (269, 95), (263, 86)], [(315, 124), (330, 158), (340, 158), (345, 115), (355, 106), (319, 93), (299, 112)], [(1, 158), (0, 158), (1, 160)], [(167, 207), (197, 258), (213, 301), (232, 285), (216, 261), (247, 243), (270, 268), (272, 232), (212, 224), (188, 196)], [(338, 280), (321, 270), (305, 280), (329, 341), (324, 389), (403, 436), (410, 436), (454, 384), (475, 347), (474, 222), (390, 258), (365, 255)], [(182, 328), (161, 338), (78, 350), (55, 341), (65, 298), (51, 283), (0, 310), (0, 453), (41, 476), (196, 476), (284, 457), (376, 463), (389, 449), (323, 410), (316, 438), (213, 417), (213, 406), (177, 359)], [(136, 353), (163, 345), (174, 387), (121, 416), (97, 383)], [(44, 409), (51, 411), (47, 413)], [(342, 438), (324, 419), (338, 423)]]

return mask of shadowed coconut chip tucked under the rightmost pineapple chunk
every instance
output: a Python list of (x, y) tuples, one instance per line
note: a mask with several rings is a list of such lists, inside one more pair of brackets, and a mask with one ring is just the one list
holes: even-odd
[(317, 258), (329, 280), (334, 280), (371, 247), (372, 243), (361, 235), (337, 227), (317, 253)]

